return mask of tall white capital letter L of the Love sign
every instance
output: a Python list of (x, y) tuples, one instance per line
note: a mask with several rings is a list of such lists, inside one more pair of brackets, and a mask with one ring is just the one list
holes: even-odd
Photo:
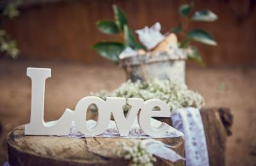
[(25, 135), (68, 135), (72, 111), (66, 109), (58, 121), (44, 122), (45, 80), (51, 77), (50, 68), (27, 68), (31, 78), (31, 116), (25, 125)]

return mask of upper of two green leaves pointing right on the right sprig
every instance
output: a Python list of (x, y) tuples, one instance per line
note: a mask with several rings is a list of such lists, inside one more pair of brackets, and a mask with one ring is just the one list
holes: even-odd
[(212, 22), (218, 19), (218, 16), (211, 10), (196, 11), (191, 20)]

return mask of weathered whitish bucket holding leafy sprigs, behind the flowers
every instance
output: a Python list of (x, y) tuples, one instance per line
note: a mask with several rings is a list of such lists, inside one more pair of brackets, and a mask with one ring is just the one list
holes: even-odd
[(127, 80), (173, 80), (186, 83), (186, 59), (173, 59), (167, 52), (147, 52), (120, 59)]

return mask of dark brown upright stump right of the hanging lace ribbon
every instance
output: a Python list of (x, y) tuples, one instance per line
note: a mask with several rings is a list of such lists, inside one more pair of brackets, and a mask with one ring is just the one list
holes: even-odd
[[(202, 109), (202, 121), (204, 123), (205, 139), (210, 165), (225, 165), (225, 153), (227, 137), (231, 135), (233, 117), (227, 108)], [(229, 123), (225, 121), (229, 118)]]

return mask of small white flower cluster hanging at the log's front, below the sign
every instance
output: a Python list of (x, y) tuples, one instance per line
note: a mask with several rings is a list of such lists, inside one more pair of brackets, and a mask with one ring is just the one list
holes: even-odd
[(122, 151), (118, 151), (117, 154), (125, 160), (131, 160), (130, 166), (152, 166), (152, 162), (156, 162), (156, 158), (148, 151), (143, 140), (132, 140), (131, 144), (123, 142), (120, 145)]

